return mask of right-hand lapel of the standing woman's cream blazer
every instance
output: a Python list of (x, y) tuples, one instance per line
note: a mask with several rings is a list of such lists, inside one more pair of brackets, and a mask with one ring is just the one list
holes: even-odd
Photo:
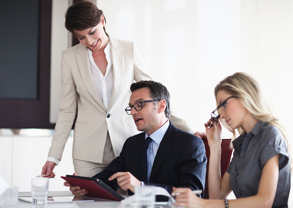
[(111, 45), (114, 84), (111, 99), (108, 106), (108, 111), (112, 108), (113, 104), (116, 102), (118, 98), (118, 95), (122, 88), (122, 80), (124, 75), (123, 46), (118, 42), (117, 39), (109, 38), (109, 40)]

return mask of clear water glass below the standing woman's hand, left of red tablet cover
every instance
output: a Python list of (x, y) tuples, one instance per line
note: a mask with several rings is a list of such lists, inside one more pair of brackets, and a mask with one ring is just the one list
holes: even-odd
[(37, 177), (31, 179), (31, 197), (33, 208), (47, 207), (48, 178)]

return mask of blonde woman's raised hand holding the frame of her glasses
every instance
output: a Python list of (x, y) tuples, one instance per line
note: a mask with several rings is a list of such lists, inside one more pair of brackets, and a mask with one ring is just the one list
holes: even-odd
[(221, 132), (222, 126), (220, 124), (220, 120), (218, 124), (213, 122), (212, 119), (208, 120), (207, 123), (204, 124), (207, 133), (207, 141), (210, 147), (220, 146), (221, 145)]

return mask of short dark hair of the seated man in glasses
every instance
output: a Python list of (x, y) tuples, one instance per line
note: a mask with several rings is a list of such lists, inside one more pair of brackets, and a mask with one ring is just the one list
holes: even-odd
[[(170, 118), (170, 94), (168, 89), (162, 85), (160, 82), (155, 82), (152, 80), (149, 81), (140, 81), (133, 83), (130, 86), (130, 91), (134, 92), (137, 89), (141, 89), (147, 87), (150, 90), (151, 98), (154, 100), (162, 100), (166, 101), (166, 109), (165, 109), (165, 116), (166, 118)], [(158, 103), (158, 102), (156, 102)]]

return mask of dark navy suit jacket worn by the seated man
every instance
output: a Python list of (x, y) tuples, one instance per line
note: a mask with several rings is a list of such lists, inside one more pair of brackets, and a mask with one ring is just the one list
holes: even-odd
[[(103, 180), (114, 190), (118, 188), (117, 181), (109, 181), (108, 178), (116, 172), (130, 172), (140, 180), (139, 160), (144, 141), (145, 133), (129, 137), (120, 156), (93, 177)], [(204, 190), (206, 166), (203, 141), (193, 134), (176, 129), (170, 122), (156, 154), (149, 183), (145, 184), (161, 186), (170, 193), (173, 186)]]

